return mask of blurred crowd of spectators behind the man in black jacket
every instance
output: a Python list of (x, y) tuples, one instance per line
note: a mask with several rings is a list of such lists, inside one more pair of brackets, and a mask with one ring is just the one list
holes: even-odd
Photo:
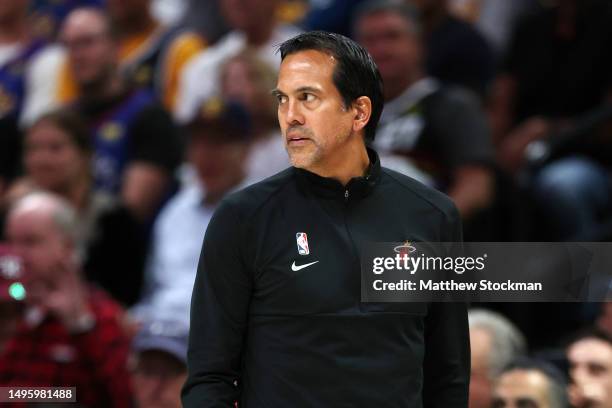
[[(608, 0), (0, 0), (0, 385), (179, 406), (206, 226), (290, 165), (270, 91), (303, 30), (370, 52), (373, 147), (465, 240), (609, 240), (611, 22)], [(470, 332), (471, 408), (612, 407), (607, 304), (474, 305)]]

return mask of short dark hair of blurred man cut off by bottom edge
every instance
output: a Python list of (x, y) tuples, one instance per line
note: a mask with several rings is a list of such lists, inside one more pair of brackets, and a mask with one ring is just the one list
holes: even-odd
[(515, 370), (537, 371), (548, 379), (548, 397), (551, 407), (566, 408), (569, 407), (566, 386), (567, 378), (557, 367), (543, 360), (531, 358), (519, 358), (508, 364), (501, 375)]

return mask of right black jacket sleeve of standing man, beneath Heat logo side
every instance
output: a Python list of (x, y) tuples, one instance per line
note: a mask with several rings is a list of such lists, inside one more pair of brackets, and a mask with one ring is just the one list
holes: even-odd
[[(462, 241), (461, 219), (454, 206), (443, 224), (442, 241)], [(467, 408), (469, 385), (467, 304), (433, 302), (425, 320), (423, 407)]]

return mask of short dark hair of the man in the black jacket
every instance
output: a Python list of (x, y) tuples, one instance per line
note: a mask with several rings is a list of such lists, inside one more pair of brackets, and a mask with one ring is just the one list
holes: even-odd
[(365, 137), (374, 140), (384, 102), (382, 78), (370, 54), (350, 38), (325, 31), (303, 33), (279, 46), (281, 61), (287, 55), (307, 50), (321, 51), (336, 59), (333, 82), (346, 107), (361, 96), (370, 98), (372, 114), (365, 127)]

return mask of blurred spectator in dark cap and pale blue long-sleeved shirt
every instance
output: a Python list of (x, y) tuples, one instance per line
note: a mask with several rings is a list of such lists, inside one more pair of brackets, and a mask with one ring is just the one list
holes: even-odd
[(198, 183), (180, 191), (160, 213), (137, 319), (164, 317), (189, 322), (191, 292), (206, 226), (219, 201), (245, 186), (251, 137), (244, 108), (212, 100), (187, 127), (188, 158)]

